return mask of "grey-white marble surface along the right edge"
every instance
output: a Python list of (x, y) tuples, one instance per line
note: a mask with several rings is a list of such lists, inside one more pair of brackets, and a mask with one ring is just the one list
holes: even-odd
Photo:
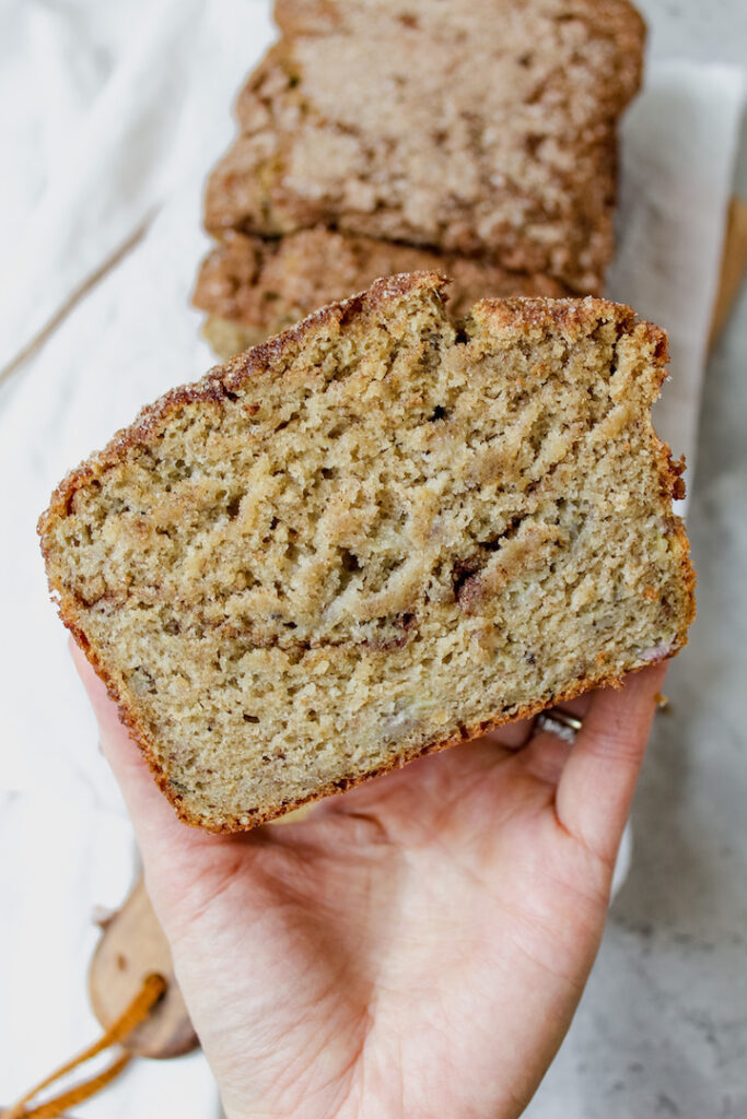
[[(639, 7), (655, 56), (747, 63), (744, 0)], [(690, 510), (698, 620), (636, 796), (631, 874), (526, 1119), (747, 1117), (746, 433), (743, 291), (706, 377)]]

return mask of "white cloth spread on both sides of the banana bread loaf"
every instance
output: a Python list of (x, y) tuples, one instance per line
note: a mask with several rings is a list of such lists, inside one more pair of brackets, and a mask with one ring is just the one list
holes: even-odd
[[(241, 79), (273, 36), (263, 0), (27, 0), (15, 12), (0, 36), (0, 142), (18, 150), (0, 179), (7, 1102), (96, 1035), (85, 994), (91, 913), (119, 904), (133, 868), (119, 793), (48, 602), (36, 518), (71, 466), (143, 402), (212, 364), (188, 307), (206, 246), (202, 182), (232, 135)], [(609, 291), (670, 331), (659, 423), (691, 461), (741, 100), (739, 72), (659, 65), (624, 128)], [(217, 1096), (199, 1054), (141, 1061), (85, 1113), (207, 1119)]]

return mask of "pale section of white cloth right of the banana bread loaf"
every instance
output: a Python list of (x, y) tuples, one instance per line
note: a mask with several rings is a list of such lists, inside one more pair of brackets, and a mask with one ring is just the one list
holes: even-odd
[(745, 75), (735, 67), (659, 63), (623, 122), (607, 294), (669, 331), (672, 382), (654, 419), (685, 455), (690, 482), (744, 95)]

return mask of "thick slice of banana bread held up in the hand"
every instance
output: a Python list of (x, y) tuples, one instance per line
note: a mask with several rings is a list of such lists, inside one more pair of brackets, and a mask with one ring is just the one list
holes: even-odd
[(249, 828), (671, 656), (666, 339), (604, 300), (375, 283), (71, 473), (50, 586), (192, 824)]

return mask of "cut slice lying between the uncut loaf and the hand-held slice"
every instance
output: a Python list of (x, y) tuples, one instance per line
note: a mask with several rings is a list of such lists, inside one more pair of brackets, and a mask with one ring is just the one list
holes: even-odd
[(273, 241), (230, 229), (203, 261), (193, 302), (209, 312), (204, 335), (218, 357), (228, 358), (380, 276), (418, 271), (450, 275), (454, 320), (485, 295), (570, 294), (549, 276), (317, 227)]

